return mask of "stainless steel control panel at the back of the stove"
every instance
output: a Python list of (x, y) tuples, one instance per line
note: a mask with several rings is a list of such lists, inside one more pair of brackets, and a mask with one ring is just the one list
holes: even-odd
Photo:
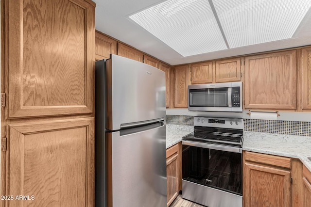
[(193, 126), (243, 129), (243, 119), (195, 116)]

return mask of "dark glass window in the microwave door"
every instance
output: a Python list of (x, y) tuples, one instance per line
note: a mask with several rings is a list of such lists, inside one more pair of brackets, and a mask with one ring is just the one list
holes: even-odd
[(228, 88), (190, 89), (190, 106), (228, 107)]

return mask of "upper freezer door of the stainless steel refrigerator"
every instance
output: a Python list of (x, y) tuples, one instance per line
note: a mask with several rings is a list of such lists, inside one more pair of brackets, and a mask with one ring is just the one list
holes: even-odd
[(107, 123), (121, 124), (165, 117), (165, 73), (155, 67), (118, 55), (106, 61)]

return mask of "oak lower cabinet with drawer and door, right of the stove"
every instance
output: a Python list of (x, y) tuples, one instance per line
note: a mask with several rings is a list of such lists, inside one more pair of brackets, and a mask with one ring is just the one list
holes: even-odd
[(243, 153), (244, 207), (291, 207), (291, 159)]

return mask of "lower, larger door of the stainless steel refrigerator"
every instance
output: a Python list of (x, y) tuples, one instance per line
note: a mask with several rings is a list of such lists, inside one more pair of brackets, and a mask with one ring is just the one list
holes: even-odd
[(161, 122), (107, 133), (108, 207), (167, 206), (165, 135)]

